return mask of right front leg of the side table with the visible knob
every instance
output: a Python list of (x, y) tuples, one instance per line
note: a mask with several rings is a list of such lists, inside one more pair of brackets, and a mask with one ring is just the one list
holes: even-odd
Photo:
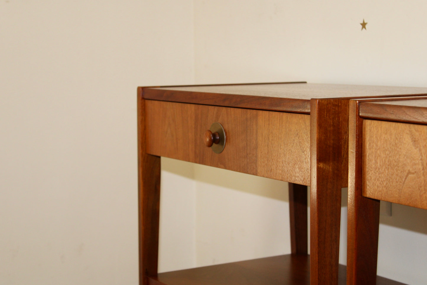
[(347, 186), (348, 100), (311, 100), (312, 285), (338, 283), (341, 187)]

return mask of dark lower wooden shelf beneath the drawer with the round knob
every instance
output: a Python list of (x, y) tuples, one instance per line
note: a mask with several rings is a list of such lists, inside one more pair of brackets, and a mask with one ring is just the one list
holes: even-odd
[[(339, 284), (346, 267), (339, 265)], [(279, 255), (226, 264), (159, 273), (149, 285), (309, 285), (310, 255)], [(377, 276), (377, 285), (402, 285)]]

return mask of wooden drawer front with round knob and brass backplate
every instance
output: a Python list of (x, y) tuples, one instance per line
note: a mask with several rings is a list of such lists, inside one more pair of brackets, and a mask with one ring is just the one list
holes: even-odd
[[(220, 154), (204, 134), (219, 122)], [(310, 185), (310, 115), (146, 100), (149, 154)]]

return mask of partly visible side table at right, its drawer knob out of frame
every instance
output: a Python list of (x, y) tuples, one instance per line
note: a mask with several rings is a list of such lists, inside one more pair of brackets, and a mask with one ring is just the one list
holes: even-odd
[(347, 284), (375, 284), (380, 200), (427, 209), (427, 97), (351, 100)]

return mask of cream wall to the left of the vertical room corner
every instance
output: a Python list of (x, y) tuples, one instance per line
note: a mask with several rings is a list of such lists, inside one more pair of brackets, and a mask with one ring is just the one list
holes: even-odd
[(136, 89), (193, 70), (191, 0), (0, 1), (0, 284), (137, 284)]

